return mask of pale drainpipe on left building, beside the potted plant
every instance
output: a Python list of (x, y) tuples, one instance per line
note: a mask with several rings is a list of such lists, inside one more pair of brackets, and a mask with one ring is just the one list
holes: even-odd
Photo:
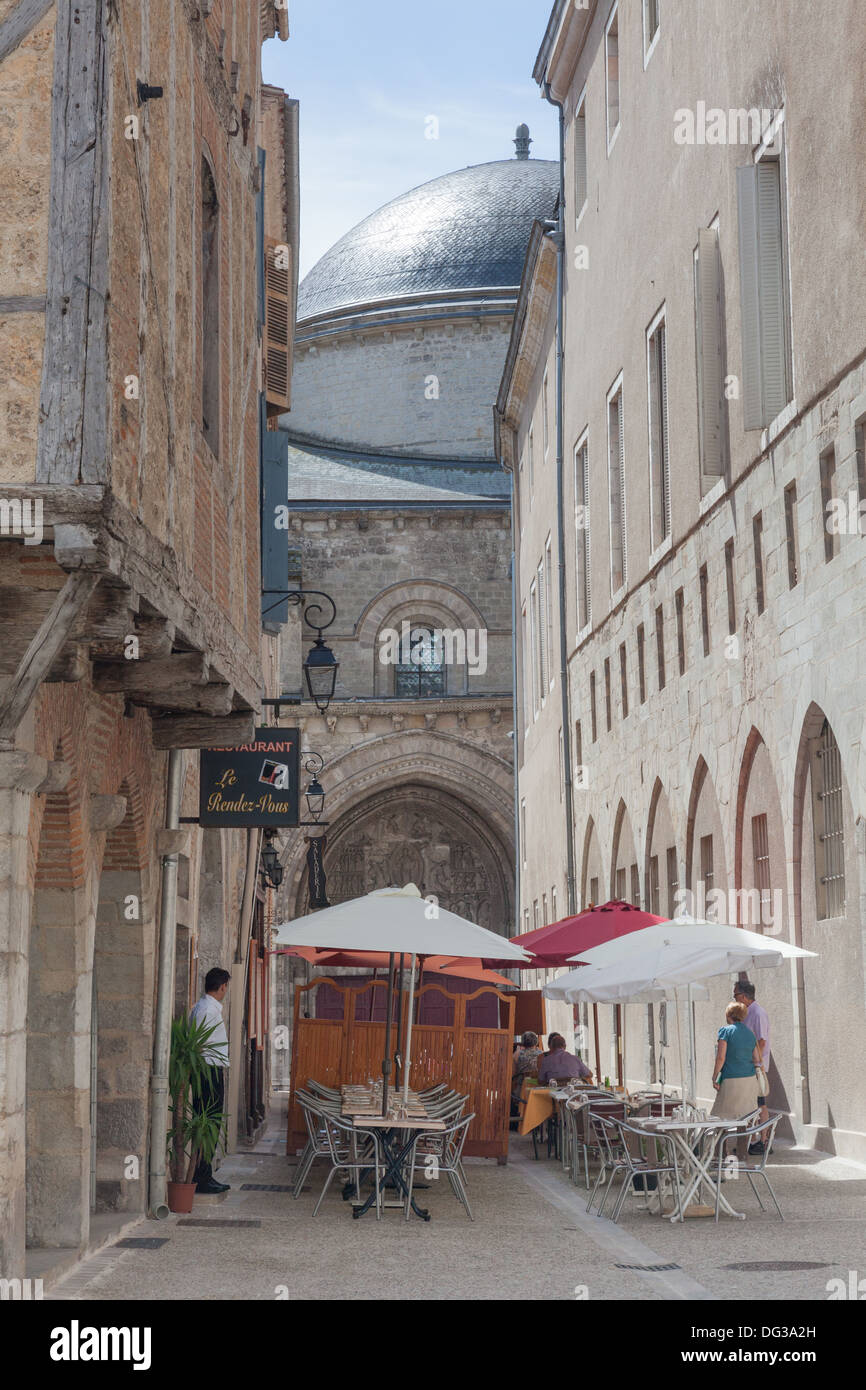
[[(179, 828), (183, 751), (168, 753), (165, 780), (165, 830)], [(153, 1020), (153, 1069), (150, 1073), (150, 1215), (168, 1216), (165, 1202), (165, 1134), (168, 1131), (168, 1058), (174, 1008), (174, 954), (178, 923), (178, 852), (163, 855), (160, 892), (160, 956)]]

